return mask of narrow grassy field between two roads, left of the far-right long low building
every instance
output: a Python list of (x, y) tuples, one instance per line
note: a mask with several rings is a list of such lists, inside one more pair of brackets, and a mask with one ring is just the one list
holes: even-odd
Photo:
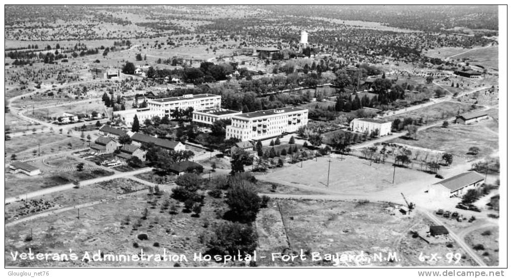
[[(477, 108), (478, 108), (478, 106), (477, 106)], [(423, 121), (428, 121), (428, 123), (433, 123), (435, 121), (455, 117), (457, 115), (457, 112), (462, 114), (462, 113), (465, 113), (472, 109), (473, 108), (471, 107), (470, 104), (445, 101), (445, 102), (440, 102), (440, 103), (430, 105), (428, 107), (423, 107), (423, 108), (411, 110), (409, 112), (404, 112), (404, 113), (398, 114), (396, 116), (391, 115), (389, 117), (383, 118), (383, 120), (393, 121), (397, 118), (399, 118), (399, 119), (423, 118)]]

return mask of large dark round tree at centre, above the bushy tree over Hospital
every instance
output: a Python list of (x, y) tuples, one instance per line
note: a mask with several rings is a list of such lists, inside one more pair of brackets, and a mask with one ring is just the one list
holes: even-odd
[(241, 223), (250, 223), (260, 211), (261, 198), (256, 189), (246, 180), (231, 182), (226, 193), (229, 218)]

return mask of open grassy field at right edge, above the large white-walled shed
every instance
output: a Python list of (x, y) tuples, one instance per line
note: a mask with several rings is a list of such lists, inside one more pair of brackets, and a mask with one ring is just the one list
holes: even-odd
[(396, 138), (390, 143), (412, 145), (453, 153), (460, 157), (471, 157), (466, 154), (470, 147), (478, 147), (480, 153), (476, 157), (484, 157), (498, 149), (498, 136), (491, 132), (483, 132), (483, 127), (493, 124), (493, 120), (483, 120), (474, 125), (450, 124), (447, 128), (433, 127), (418, 132), (417, 140)]

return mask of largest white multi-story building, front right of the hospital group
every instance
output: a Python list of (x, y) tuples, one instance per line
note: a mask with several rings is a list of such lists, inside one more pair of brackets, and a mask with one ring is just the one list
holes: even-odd
[(226, 139), (260, 140), (295, 132), (307, 124), (308, 109), (303, 108), (285, 107), (243, 113), (231, 117), (231, 125), (226, 126)]

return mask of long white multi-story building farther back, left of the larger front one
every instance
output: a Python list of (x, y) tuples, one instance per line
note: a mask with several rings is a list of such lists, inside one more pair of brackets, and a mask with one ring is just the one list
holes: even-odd
[(147, 107), (152, 111), (162, 111), (164, 115), (172, 117), (172, 113), (177, 109), (205, 110), (221, 107), (221, 96), (211, 94), (183, 95), (181, 97), (147, 100)]

